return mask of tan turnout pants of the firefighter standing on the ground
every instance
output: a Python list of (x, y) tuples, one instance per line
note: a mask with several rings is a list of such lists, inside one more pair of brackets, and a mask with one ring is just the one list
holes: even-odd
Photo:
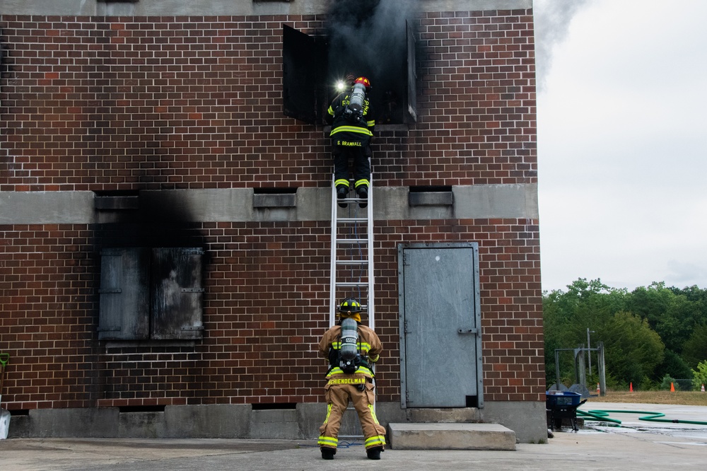
[(354, 403), (358, 420), (361, 421), (363, 437), (366, 439), (366, 449), (385, 445), (385, 427), (378, 424), (373, 412), (375, 392), (373, 383), (366, 381), (366, 388), (359, 391), (355, 384), (327, 384), (327, 418), (320, 426), (320, 437), (317, 443), (324, 448), (337, 448), (339, 445), (339, 427), (341, 416), (344, 415), (349, 400)]

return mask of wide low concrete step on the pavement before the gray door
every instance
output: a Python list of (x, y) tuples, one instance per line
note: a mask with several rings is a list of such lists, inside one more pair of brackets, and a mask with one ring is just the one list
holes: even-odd
[(388, 424), (395, 450), (515, 451), (515, 432), (500, 424)]

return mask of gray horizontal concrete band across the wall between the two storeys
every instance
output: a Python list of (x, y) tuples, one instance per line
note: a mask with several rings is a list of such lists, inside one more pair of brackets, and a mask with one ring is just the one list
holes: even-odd
[[(377, 221), (426, 219), (537, 219), (537, 185), (452, 187), (453, 204), (412, 206), (408, 187), (374, 187)], [(268, 195), (270, 196), (270, 195)], [(277, 195), (274, 195), (277, 196)], [(178, 214), (182, 221), (329, 221), (329, 187), (298, 188), (286, 207), (253, 207), (252, 188), (144, 190), (127, 212)], [(71, 224), (117, 222), (126, 209), (95, 207), (93, 192), (0, 192), (0, 224)]]

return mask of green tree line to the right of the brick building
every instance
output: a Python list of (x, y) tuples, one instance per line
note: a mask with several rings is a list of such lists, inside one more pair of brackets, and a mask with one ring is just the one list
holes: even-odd
[[(707, 289), (666, 287), (665, 283), (633, 291), (578, 279), (567, 290), (542, 296), (547, 385), (556, 378), (555, 350), (604, 344), (609, 388), (653, 389), (666, 378), (693, 380), (699, 387), (707, 371)], [(597, 381), (597, 356), (592, 352), (589, 384)], [(575, 382), (573, 354), (561, 351), (559, 380)], [(670, 386), (670, 383), (667, 383)]]

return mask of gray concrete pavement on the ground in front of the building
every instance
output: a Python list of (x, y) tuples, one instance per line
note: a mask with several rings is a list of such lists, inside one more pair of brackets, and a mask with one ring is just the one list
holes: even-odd
[[(706, 399), (707, 403), (707, 399)], [(707, 406), (607, 404), (582, 409), (662, 412), (666, 419), (707, 421)], [(563, 428), (549, 443), (519, 443), (515, 451), (385, 450), (366, 459), (361, 443), (341, 446), (333, 461), (321, 459), (315, 441), (143, 438), (14, 438), (0, 441), (7, 471), (180, 470), (674, 470), (702, 469), (707, 425), (639, 421), (640, 414), (612, 413), (621, 426), (588, 422)]]

